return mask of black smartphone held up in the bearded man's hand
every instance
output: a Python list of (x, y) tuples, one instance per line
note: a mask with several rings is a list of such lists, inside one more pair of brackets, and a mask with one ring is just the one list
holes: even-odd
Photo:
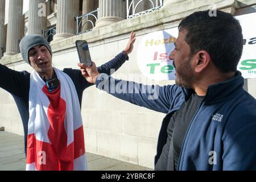
[(80, 63), (92, 66), (92, 59), (90, 59), (90, 52), (86, 40), (77, 40), (76, 49), (79, 54)]

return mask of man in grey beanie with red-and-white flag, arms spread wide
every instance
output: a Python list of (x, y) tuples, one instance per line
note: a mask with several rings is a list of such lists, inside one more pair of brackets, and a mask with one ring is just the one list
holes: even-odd
[[(124, 51), (98, 72), (110, 74), (133, 50), (135, 34)], [(52, 67), (52, 50), (40, 35), (20, 41), (20, 53), (34, 71), (14, 71), (0, 64), (0, 88), (14, 97), (23, 122), (27, 170), (86, 170), (81, 119), (83, 91), (92, 86), (80, 70)]]

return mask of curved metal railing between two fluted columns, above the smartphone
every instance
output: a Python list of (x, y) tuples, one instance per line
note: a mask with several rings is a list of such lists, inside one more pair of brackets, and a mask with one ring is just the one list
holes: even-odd
[(98, 20), (98, 9), (88, 14), (76, 17), (76, 34), (83, 34), (92, 31), (95, 23)]

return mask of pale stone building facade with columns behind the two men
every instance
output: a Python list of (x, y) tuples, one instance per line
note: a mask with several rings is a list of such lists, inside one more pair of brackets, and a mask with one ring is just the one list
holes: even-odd
[[(5, 24), (7, 1), (9, 13)], [(213, 5), (234, 15), (256, 9), (256, 0), (29, 0), (28, 12), (23, 14), (23, 3), (23, 0), (0, 0), (0, 63), (16, 71), (32, 70), (22, 60), (18, 47), (19, 40), (27, 34), (46, 36), (51, 42), (56, 68), (76, 69), (79, 60), (76, 40), (87, 40), (93, 61), (101, 65), (125, 48), (131, 31), (137, 32), (138, 43), (144, 34), (176, 27), (185, 16), (211, 9)], [(135, 44), (130, 60), (114, 77), (128, 73), (144, 77), (136, 63), (137, 48)], [(256, 98), (255, 79), (246, 79), (245, 83), (245, 89)], [(163, 117), (164, 114), (128, 104), (92, 86), (85, 90), (82, 101), (86, 151), (154, 168)], [(23, 135), (13, 97), (3, 89), (0, 89), (1, 126)]]

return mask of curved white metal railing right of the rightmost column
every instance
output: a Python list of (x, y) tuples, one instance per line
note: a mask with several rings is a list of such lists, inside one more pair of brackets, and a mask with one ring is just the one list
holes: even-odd
[[(139, 5), (142, 5), (142, 2), (150, 3), (151, 9), (144, 10), (144, 11), (137, 13), (136, 10), (139, 7)], [(130, 18), (134, 18), (137, 16), (141, 16), (143, 14), (147, 14), (147, 13), (151, 13), (151, 12), (160, 10), (160, 8), (163, 6), (163, 0), (155, 0), (154, 2), (152, 0), (141, 0), (135, 4), (134, 0), (133, 1), (127, 0), (126, 1), (126, 13), (127, 13), (126, 18), (130, 19)]]

